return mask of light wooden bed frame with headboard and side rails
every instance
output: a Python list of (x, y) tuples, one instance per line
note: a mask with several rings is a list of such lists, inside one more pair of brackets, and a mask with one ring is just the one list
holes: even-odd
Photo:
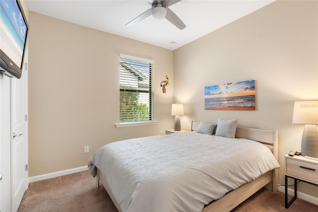
[[(196, 131), (199, 124), (200, 122), (192, 121), (191, 130)], [(237, 127), (235, 137), (254, 140), (254, 141), (265, 144), (272, 151), (276, 160), (278, 160), (277, 133), (278, 133), (277, 130), (263, 130), (263, 129)], [(102, 175), (102, 173), (100, 173), (99, 169), (97, 169), (96, 180), (97, 180), (97, 189), (99, 189), (99, 182), (101, 182), (105, 190), (107, 191), (109, 197), (115, 204), (116, 208), (118, 209), (119, 212), (121, 212), (119, 204), (114, 198), (105, 177)], [(272, 171), (269, 171), (261, 175), (259, 178), (240, 186), (236, 190), (229, 192), (224, 197), (216, 201), (213, 201), (209, 205), (205, 206), (202, 212), (216, 212), (216, 211), (229, 212), (263, 187), (275, 193), (278, 188), (277, 180), (278, 180), (278, 170), (274, 169)]]

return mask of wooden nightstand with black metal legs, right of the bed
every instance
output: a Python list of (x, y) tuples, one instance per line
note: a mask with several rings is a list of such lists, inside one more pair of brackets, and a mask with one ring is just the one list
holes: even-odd
[[(288, 203), (287, 189), (288, 178), (294, 179), (294, 197)], [(307, 159), (301, 155), (294, 157), (285, 155), (285, 208), (297, 199), (297, 180), (318, 186), (318, 161)]]

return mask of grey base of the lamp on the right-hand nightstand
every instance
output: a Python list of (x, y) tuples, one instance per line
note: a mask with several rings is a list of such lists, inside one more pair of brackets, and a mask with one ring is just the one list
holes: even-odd
[(318, 131), (316, 125), (305, 125), (301, 148), (303, 156), (318, 158)]

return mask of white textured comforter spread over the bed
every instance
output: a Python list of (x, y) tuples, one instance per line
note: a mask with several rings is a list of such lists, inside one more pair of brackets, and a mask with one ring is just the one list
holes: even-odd
[(181, 132), (107, 144), (96, 167), (123, 212), (197, 212), (279, 164), (255, 141)]

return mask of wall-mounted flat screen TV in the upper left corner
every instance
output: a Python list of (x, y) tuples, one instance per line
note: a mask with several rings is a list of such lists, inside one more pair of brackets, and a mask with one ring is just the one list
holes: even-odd
[(28, 23), (18, 0), (0, 0), (0, 72), (20, 79)]

